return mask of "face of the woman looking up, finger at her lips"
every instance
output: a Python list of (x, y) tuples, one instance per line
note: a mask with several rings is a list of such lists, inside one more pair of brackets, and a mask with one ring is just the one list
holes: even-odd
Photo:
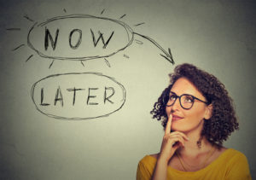
[[(172, 85), (170, 92), (175, 93), (177, 96), (189, 94), (207, 102), (206, 98), (187, 78), (178, 78)], [(183, 109), (177, 98), (172, 106), (166, 106), (167, 116), (169, 117), (170, 113), (172, 113), (172, 131), (201, 132), (204, 119), (211, 118), (211, 105), (207, 106), (204, 102), (195, 100), (193, 107), (190, 109)]]

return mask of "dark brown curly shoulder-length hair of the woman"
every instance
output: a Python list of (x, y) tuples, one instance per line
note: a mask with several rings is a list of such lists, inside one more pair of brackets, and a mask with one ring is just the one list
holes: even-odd
[(238, 130), (238, 122), (233, 100), (225, 90), (218, 78), (214, 77), (192, 64), (184, 63), (174, 69), (174, 73), (169, 74), (171, 84), (162, 92), (158, 101), (154, 103), (154, 108), (150, 112), (153, 119), (162, 119), (164, 129), (167, 123), (166, 103), (169, 99), (169, 92), (172, 85), (178, 78), (188, 78), (189, 81), (206, 97), (207, 102), (212, 104), (212, 117), (204, 121), (201, 136), (205, 136), (212, 145), (221, 147), (227, 140), (231, 132)]

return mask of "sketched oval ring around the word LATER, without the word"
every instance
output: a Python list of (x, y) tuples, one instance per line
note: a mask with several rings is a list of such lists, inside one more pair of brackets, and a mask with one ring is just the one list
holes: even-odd
[[(38, 83), (40, 83), (41, 81), (44, 81), (45, 79), (47, 78), (54, 78), (54, 77), (57, 77), (57, 76), (65, 76), (65, 75), (84, 75), (84, 74), (93, 74), (93, 75), (96, 75), (96, 76), (100, 76), (100, 77), (105, 77), (105, 78), (109, 78), (110, 80), (113, 81), (113, 83), (115, 84), (118, 84), (120, 89), (122, 90), (122, 93), (123, 93), (123, 98), (120, 102), (123, 102), (120, 107), (118, 107), (117, 109), (113, 110), (113, 112), (110, 112), (110, 113), (107, 113), (107, 114), (103, 114), (103, 115), (99, 115), (99, 116), (96, 116), (96, 117), (85, 117), (85, 118), (67, 118), (67, 117), (61, 117), (61, 116), (56, 116), (54, 114), (50, 114), (50, 113), (44, 113), (43, 111), (41, 111), (39, 109), (39, 107), (37, 106), (37, 103), (34, 101), (34, 90), (35, 90), (35, 87)], [(125, 87), (120, 84), (118, 81), (115, 80), (115, 78), (111, 78), (111, 77), (108, 77), (106, 75), (103, 75), (102, 73), (60, 73), (60, 74), (53, 74), (53, 75), (49, 75), (45, 78), (42, 78), (40, 80), (38, 80), (35, 84), (32, 85), (32, 89), (31, 89), (31, 97), (32, 97), (32, 102), (34, 103), (34, 105), (36, 106), (37, 110), (40, 112), (40, 113), (43, 113), (44, 115), (47, 115), (48, 117), (50, 118), (55, 118), (55, 119), (63, 119), (63, 120), (82, 120), (82, 119), (96, 119), (96, 118), (102, 118), (102, 117), (108, 117), (110, 114), (112, 113), (115, 113), (117, 111), (119, 111), (120, 108), (122, 108), (125, 104), (125, 99), (126, 99), (126, 90), (125, 90)]]

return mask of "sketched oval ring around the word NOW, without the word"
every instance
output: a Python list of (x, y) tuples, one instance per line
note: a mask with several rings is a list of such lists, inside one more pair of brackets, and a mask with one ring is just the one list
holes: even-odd
[(118, 53), (121, 50), (124, 50), (125, 48), (127, 48), (128, 46), (131, 45), (131, 43), (133, 42), (134, 39), (134, 34), (133, 34), (133, 30), (131, 29), (130, 26), (128, 26), (127, 24), (125, 24), (125, 22), (122, 22), (120, 20), (113, 20), (110, 18), (105, 18), (105, 17), (97, 17), (97, 16), (93, 16), (93, 15), (64, 15), (64, 16), (57, 16), (54, 18), (50, 18), (49, 20), (46, 20), (45, 22), (42, 22), (40, 24), (38, 24), (38, 27), (42, 27), (46, 24), (48, 24), (51, 21), (54, 20), (61, 20), (61, 19), (68, 19), (68, 18), (93, 18), (93, 19), (100, 19), (100, 20), (110, 20), (113, 21), (114, 23), (119, 24), (120, 26), (123, 26), (125, 28), (125, 31), (127, 33), (127, 37), (128, 37), (128, 44), (125, 45), (125, 47), (121, 48), (121, 49), (117, 49), (115, 52), (111, 53), (110, 55), (95, 55), (95, 56), (84, 56), (84, 57), (59, 57), (59, 56), (49, 56), (49, 55), (44, 55), (42, 52), (40, 52), (38, 49), (36, 49), (30, 40), (30, 34), (32, 32), (32, 30), (35, 28), (35, 26), (38, 24), (38, 22), (36, 22), (32, 28), (29, 30), (28, 35), (27, 35), (27, 45), (33, 49), (34, 51), (36, 51), (38, 53), (38, 55), (40, 55), (41, 57), (44, 58), (50, 58), (50, 59), (56, 59), (56, 60), (74, 60), (74, 61), (85, 61), (85, 60), (91, 60), (91, 59), (97, 59), (97, 58), (106, 58), (109, 57), (111, 55), (115, 55), (116, 53)]

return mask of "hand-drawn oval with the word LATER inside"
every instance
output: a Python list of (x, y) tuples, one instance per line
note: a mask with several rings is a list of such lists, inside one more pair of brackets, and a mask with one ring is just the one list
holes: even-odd
[(102, 73), (63, 73), (32, 85), (32, 102), (55, 119), (96, 119), (125, 104), (125, 87)]

